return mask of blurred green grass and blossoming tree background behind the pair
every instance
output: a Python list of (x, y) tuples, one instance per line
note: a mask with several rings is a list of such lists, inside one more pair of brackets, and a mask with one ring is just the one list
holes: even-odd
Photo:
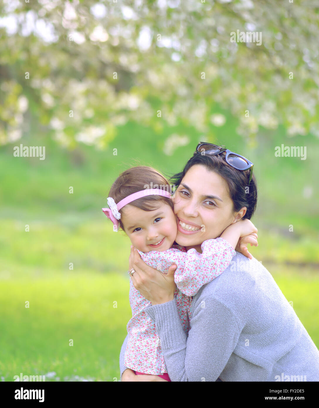
[[(319, 346), (317, 15), (297, 0), (1, 2), (1, 381), (119, 381), (130, 241), (101, 208), (119, 173), (176, 173), (200, 141), (254, 163), (251, 253)], [(276, 157), (282, 144), (306, 160)]]

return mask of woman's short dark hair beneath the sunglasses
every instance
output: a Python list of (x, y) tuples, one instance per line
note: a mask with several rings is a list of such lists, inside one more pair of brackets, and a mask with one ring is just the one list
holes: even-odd
[(218, 155), (209, 155), (194, 153), (194, 155), (188, 160), (183, 171), (174, 174), (170, 177), (169, 182), (175, 185), (177, 188), (187, 171), (195, 164), (201, 164), (205, 166), (207, 170), (213, 171), (219, 174), (226, 182), (229, 188), (229, 195), (233, 201), (233, 211), (237, 212), (242, 207), (246, 207), (247, 211), (242, 219), (251, 219), (256, 209), (257, 204), (257, 184), (255, 175), (252, 175), (251, 182), (249, 182), (250, 169), (240, 171), (230, 166), (225, 160), (226, 153), (220, 153)]

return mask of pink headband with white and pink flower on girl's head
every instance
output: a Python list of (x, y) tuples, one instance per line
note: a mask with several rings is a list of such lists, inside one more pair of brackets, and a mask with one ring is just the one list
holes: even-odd
[(119, 231), (119, 222), (121, 214), (119, 210), (123, 208), (126, 204), (137, 200), (138, 198), (145, 197), (145, 195), (164, 195), (166, 197), (172, 198), (172, 196), (166, 190), (160, 190), (158, 188), (145, 188), (145, 190), (137, 191), (123, 198), (119, 203), (115, 203), (112, 197), (108, 197), (109, 208), (102, 208), (103, 213), (112, 221), (113, 231)]

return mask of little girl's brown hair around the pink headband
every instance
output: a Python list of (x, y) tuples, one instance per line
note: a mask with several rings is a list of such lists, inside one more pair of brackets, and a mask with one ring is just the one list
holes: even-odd
[[(145, 190), (145, 188), (159, 188), (172, 193), (172, 186), (170, 186), (168, 180), (159, 173), (159, 171), (149, 166), (138, 166), (123, 171), (123, 173), (117, 177), (112, 184), (108, 197), (112, 197), (117, 204), (128, 195)], [(158, 208), (156, 202), (165, 202), (165, 204), (171, 206), (174, 211), (172, 199), (163, 195), (141, 197), (129, 204), (143, 211), (153, 211)], [(125, 206), (123, 208), (125, 208)], [(119, 213), (122, 214), (122, 208), (119, 210)], [(121, 219), (119, 219), (119, 227), (124, 231)]]

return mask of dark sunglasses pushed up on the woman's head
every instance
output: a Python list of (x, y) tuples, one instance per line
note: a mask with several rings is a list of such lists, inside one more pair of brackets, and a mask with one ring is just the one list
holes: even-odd
[[(248, 184), (250, 184), (251, 177), (253, 176), (253, 163), (246, 159), (246, 157), (243, 157), (238, 153), (231, 152), (224, 147), (225, 146), (216, 146), (216, 144), (200, 142), (196, 147), (196, 153), (201, 153), (203, 155), (209, 154), (214, 156), (216, 154), (226, 152), (225, 160), (230, 166), (233, 166), (235, 169), (240, 171), (250, 169), (248, 182)], [(202, 153), (203, 151), (204, 153)]]

